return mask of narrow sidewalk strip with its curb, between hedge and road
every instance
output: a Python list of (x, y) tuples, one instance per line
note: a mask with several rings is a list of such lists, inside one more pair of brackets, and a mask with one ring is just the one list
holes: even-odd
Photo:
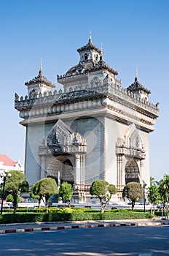
[(78, 222), (28, 222), (0, 224), (0, 234), (24, 233), (44, 230), (66, 230), (74, 228), (92, 227), (127, 227), (127, 226), (157, 226), (169, 225), (169, 220), (163, 219), (122, 219), (101, 221), (78, 221)]

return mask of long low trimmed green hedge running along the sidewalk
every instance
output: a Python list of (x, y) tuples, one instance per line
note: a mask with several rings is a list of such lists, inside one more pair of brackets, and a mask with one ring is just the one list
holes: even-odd
[(72, 213), (17, 213), (1, 214), (0, 223), (21, 223), (21, 222), (63, 222), (78, 220), (103, 220), (103, 219), (149, 219), (152, 215), (149, 212), (72, 212)]

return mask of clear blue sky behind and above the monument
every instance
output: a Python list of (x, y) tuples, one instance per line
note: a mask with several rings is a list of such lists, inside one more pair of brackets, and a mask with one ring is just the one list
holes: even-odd
[(76, 49), (93, 43), (118, 70), (122, 86), (135, 77), (160, 102), (160, 118), (150, 135), (151, 176), (169, 173), (169, 1), (168, 0), (6, 0), (0, 1), (0, 154), (24, 162), (25, 128), (14, 109), (14, 94), (27, 94), (25, 81), (39, 72), (56, 83), (77, 64)]

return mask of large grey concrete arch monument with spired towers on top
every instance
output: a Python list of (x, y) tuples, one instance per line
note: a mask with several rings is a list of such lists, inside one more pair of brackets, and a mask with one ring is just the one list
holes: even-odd
[(79, 197), (93, 201), (90, 186), (103, 179), (116, 185), (114, 200), (120, 201), (128, 182), (149, 185), (149, 132), (159, 103), (149, 102), (150, 91), (137, 72), (122, 88), (91, 35), (77, 52), (79, 63), (58, 75), (63, 90), (44, 77), (41, 64), (39, 74), (25, 83), (28, 94), (15, 94), (15, 109), (26, 127), (25, 175), (30, 186), (44, 177), (67, 181), (74, 203)]

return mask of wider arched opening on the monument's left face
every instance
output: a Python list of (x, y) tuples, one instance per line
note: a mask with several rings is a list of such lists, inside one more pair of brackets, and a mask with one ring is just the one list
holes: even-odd
[(73, 186), (74, 167), (71, 160), (66, 156), (59, 156), (52, 159), (47, 167), (47, 177), (55, 178), (57, 184), (67, 181)]

